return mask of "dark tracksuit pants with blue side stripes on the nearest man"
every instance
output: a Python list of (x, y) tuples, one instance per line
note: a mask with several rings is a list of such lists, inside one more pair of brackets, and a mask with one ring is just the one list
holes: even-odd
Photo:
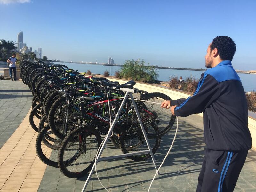
[(196, 192), (232, 192), (248, 151), (229, 152), (205, 148)]

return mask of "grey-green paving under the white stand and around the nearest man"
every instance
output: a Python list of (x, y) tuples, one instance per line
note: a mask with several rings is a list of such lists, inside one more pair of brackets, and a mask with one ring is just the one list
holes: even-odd
[[(160, 170), (161, 175), (156, 176), (151, 191), (196, 191), (197, 178), (201, 170), (204, 156), (202, 126), (203, 119), (200, 116), (192, 115), (186, 118), (180, 118), (180, 131), (178, 132), (177, 139), (171, 154)], [(158, 165), (162, 162), (170, 147), (174, 132), (175, 130), (172, 129), (161, 139), (161, 147), (155, 154)], [(106, 149), (103, 151), (103, 156), (117, 154), (121, 154), (121, 151), (108, 142)], [(255, 152), (250, 151), (235, 191), (254, 190), (255, 184), (253, 186), (253, 183), (254, 178), (256, 178), (254, 175), (256, 170), (253, 167), (255, 167), (255, 165)], [(100, 162), (97, 166), (97, 170), (100, 180), (111, 192), (147, 191), (155, 174), (155, 168), (152, 161), (149, 159), (143, 162), (135, 162), (128, 158), (108, 160)], [(58, 183), (53, 182), (54, 184), (51, 185), (52, 188), (47, 188), (46, 186), (46, 183), (50, 180), (49, 175), (52, 175), (51, 178), (54, 180), (58, 178)], [(73, 180), (75, 183), (75, 192), (81, 191), (86, 178), (85, 176), (84, 178)], [(67, 182), (67, 178), (63, 177), (58, 168), (47, 166), (38, 192), (59, 191), (58, 188), (65, 182)], [(71, 189), (71, 191), (73, 191), (73, 188), (67, 188), (65, 186), (66, 185), (63, 185), (63, 192), (68, 192)], [(93, 173), (86, 191), (106, 191), (97, 180), (95, 172)]]

